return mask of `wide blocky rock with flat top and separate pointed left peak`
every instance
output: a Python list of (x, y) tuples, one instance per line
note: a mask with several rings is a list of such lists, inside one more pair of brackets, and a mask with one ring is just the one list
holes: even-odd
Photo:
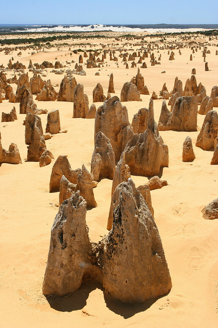
[(163, 100), (158, 128), (160, 131), (197, 131), (197, 110), (197, 99), (194, 96), (178, 97), (172, 112), (169, 112)]

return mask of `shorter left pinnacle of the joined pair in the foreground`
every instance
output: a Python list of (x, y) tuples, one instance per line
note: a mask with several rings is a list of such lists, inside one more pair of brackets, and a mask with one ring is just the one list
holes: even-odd
[(63, 296), (80, 287), (91, 249), (85, 216), (86, 201), (79, 191), (61, 204), (51, 228), (44, 295)]

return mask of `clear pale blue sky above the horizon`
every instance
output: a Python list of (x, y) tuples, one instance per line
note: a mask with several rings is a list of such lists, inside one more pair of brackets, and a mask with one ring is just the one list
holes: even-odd
[(0, 0), (0, 24), (218, 24), (218, 0)]

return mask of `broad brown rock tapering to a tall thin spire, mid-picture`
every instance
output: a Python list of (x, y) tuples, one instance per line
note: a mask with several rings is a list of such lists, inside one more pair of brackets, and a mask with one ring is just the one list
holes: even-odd
[(148, 111), (148, 126), (144, 133), (134, 134), (124, 152), (126, 164), (131, 174), (152, 176), (159, 174), (161, 167), (168, 167), (168, 147), (159, 135), (154, 121), (153, 100), (150, 100)]

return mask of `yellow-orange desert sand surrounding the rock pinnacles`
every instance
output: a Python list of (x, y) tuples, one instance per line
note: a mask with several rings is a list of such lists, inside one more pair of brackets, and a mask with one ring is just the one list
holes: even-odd
[[(174, 40), (174, 39), (172, 39)], [(208, 40), (208, 39), (207, 39)], [(102, 40), (96, 40), (96, 49)], [(108, 40), (109, 42), (109, 40)], [(110, 40), (111, 42), (111, 40)], [(214, 41), (213, 41), (214, 42)], [(217, 42), (217, 40), (216, 40)], [(87, 46), (89, 49), (90, 46)], [(79, 47), (78, 47), (79, 48)], [(77, 49), (78, 49), (77, 48)], [(81, 48), (81, 47), (80, 47)], [(134, 49), (139, 48), (135, 47)], [(63, 64), (66, 60), (77, 60), (79, 54), (70, 56), (68, 48), (51, 49), (30, 55), (31, 50), (22, 51), (22, 56), (13, 52), (15, 61), (28, 66), (29, 59), (41, 64), (44, 60), (55, 62), (55, 57)], [(128, 46), (127, 49), (130, 49)], [(161, 65), (151, 67), (146, 58), (147, 69), (141, 69), (150, 94), (162, 89), (166, 82), (169, 91), (173, 89), (176, 76), (183, 82), (191, 77), (191, 69), (196, 69), (197, 83), (201, 82), (210, 95), (217, 85), (218, 56), (216, 47), (209, 47), (209, 72), (205, 72), (202, 52), (192, 54), (190, 49), (175, 50), (175, 60), (169, 61), (168, 51), (161, 52)], [(72, 50), (72, 49), (71, 49)], [(119, 53), (117, 52), (116, 55)], [(154, 51), (155, 56), (159, 54)], [(11, 55), (0, 52), (0, 64), (7, 66)], [(100, 57), (101, 58), (101, 57)], [(157, 57), (158, 58), (158, 57)], [(137, 61), (136, 61), (137, 62)], [(136, 75), (137, 68), (126, 70), (118, 58), (119, 68), (114, 62), (100, 70), (86, 69), (86, 76), (75, 75), (78, 83), (84, 85), (84, 92), (92, 104), (92, 90), (101, 83), (107, 95), (111, 72), (114, 74), (116, 95), (126, 81)], [(129, 62), (130, 63), (130, 62)], [(71, 69), (71, 66), (67, 65)], [(129, 65), (130, 66), (130, 65)], [(137, 64), (137, 67), (140, 64)], [(28, 70), (27, 70), (28, 71)], [(47, 77), (55, 86), (64, 75), (50, 73)], [(161, 74), (166, 71), (166, 74)], [(12, 72), (8, 72), (7, 78)], [(13, 75), (13, 74), (12, 74)], [(29, 77), (32, 73), (29, 72)], [(12, 84), (14, 92), (16, 85)], [(59, 87), (55, 87), (56, 91)], [(142, 107), (149, 105), (150, 96), (142, 95), (142, 102), (123, 103), (128, 109), (129, 121)], [(68, 155), (73, 169), (84, 163), (90, 171), (90, 161), (94, 149), (94, 119), (72, 119), (73, 103), (37, 102), (38, 108), (59, 109), (61, 128), (67, 133), (52, 136), (46, 141), (55, 159)], [(96, 107), (100, 103), (96, 103)], [(158, 122), (162, 100), (154, 101), (154, 118)], [(0, 112), (9, 113), (13, 104), (3, 100)], [(47, 300), (42, 295), (42, 283), (47, 261), (50, 229), (58, 212), (59, 193), (49, 193), (49, 180), (54, 161), (40, 168), (39, 163), (25, 162), (25, 115), (19, 114), (19, 104), (15, 104), (18, 120), (0, 123), (2, 145), (17, 144), (22, 165), (2, 164), (0, 167), (0, 222), (1, 222), (1, 262), (0, 299), (2, 327), (215, 327), (218, 324), (218, 221), (205, 220), (201, 210), (218, 194), (217, 166), (210, 165), (213, 153), (195, 147), (204, 115), (198, 115), (198, 132), (160, 132), (169, 147), (169, 168), (164, 168), (159, 176), (168, 181), (168, 186), (151, 191), (154, 219), (158, 226), (163, 248), (172, 278), (173, 287), (168, 295), (150, 300), (145, 304), (125, 305), (104, 296), (98, 283), (83, 283), (81, 288), (68, 297)], [(40, 115), (45, 131), (47, 115)], [(192, 138), (196, 159), (192, 163), (182, 162), (182, 145), (186, 136)], [(132, 176), (136, 186), (146, 183), (147, 177)], [(86, 222), (89, 236), (98, 241), (107, 234), (106, 224), (109, 213), (112, 181), (104, 179), (94, 189), (98, 207), (87, 211)]]

